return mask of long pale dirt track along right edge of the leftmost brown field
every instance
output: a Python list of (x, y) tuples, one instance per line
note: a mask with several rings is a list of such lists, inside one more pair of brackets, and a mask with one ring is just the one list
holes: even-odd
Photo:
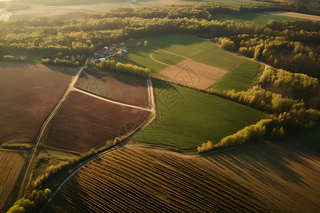
[[(85, 67), (87, 67), (87, 66), (85, 66)], [(58, 103), (55, 104), (55, 107), (53, 107), (53, 109), (50, 111), (50, 114), (43, 121), (43, 124), (41, 125), (40, 130), (38, 131), (38, 136), (36, 137), (36, 146), (34, 146), (34, 148), (33, 148), (33, 152), (32, 152), (32, 154), (31, 154), (31, 156), (30, 156), (30, 158), (28, 160), (28, 165), (27, 165), (27, 168), (26, 168), (26, 172), (23, 175), (23, 179), (22, 179), (22, 182), (21, 182), (20, 190), (18, 192), (17, 200), (19, 200), (20, 198), (23, 197), (24, 192), (26, 191), (26, 187), (28, 187), (28, 184), (30, 183), (30, 180), (31, 180), (30, 175), (31, 175), (31, 172), (33, 170), (33, 166), (31, 166), (31, 164), (33, 163), (33, 160), (34, 160), (34, 158), (36, 156), (36, 151), (37, 151), (38, 145), (40, 144), (41, 141), (43, 141), (44, 138), (46, 138), (46, 133), (48, 131), (48, 127), (51, 124), (51, 121), (54, 119), (54, 117), (58, 113), (59, 109), (63, 106), (63, 103), (67, 99), (68, 94), (70, 94), (71, 89), (73, 88), (73, 85), (78, 80), (78, 77), (80, 76), (80, 73), (82, 72), (82, 70), (85, 67), (81, 67), (80, 68), (80, 70), (77, 73), (77, 75), (75, 75), (73, 77), (73, 79), (71, 80), (70, 84), (68, 85), (68, 88), (63, 93), (63, 96), (60, 98)], [(28, 179), (27, 179), (27, 177), (28, 177)]]

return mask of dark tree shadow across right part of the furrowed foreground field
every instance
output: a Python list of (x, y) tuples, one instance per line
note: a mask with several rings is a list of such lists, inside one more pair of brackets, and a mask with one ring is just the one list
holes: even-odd
[[(257, 143), (231, 148), (229, 151), (213, 151), (208, 153), (208, 160), (218, 168), (231, 170), (241, 178), (263, 180), (266, 185), (274, 185), (272, 180), (266, 179), (265, 174), (272, 174), (275, 178), (299, 185), (309, 185), (297, 173), (297, 166), (310, 168), (310, 163), (319, 162), (317, 153), (306, 148), (302, 143), (294, 141), (259, 141)], [(295, 170), (292, 169), (292, 165)], [(279, 187), (281, 187), (279, 185)]]

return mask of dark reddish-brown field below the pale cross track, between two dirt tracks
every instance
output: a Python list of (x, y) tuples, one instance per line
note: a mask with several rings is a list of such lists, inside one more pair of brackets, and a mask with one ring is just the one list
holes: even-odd
[(68, 151), (90, 151), (136, 129), (148, 115), (148, 111), (72, 92), (50, 126), (45, 143)]

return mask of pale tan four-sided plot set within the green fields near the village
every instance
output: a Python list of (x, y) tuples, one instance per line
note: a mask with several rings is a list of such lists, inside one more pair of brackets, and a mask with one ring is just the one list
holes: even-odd
[(229, 71), (222, 68), (211, 67), (191, 59), (186, 59), (176, 63), (176, 65), (156, 72), (154, 77), (187, 87), (206, 89), (214, 82), (220, 80), (227, 72)]

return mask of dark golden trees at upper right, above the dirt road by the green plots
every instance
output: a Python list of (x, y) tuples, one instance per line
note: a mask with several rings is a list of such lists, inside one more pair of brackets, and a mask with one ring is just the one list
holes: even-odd
[(239, 52), (273, 67), (319, 77), (319, 21), (269, 21), (251, 34), (230, 36)]

